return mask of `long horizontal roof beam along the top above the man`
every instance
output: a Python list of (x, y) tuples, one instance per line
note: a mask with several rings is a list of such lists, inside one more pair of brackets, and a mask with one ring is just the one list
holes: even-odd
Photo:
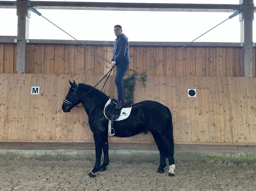
[[(77, 9), (114, 11), (182, 11), (182, 12), (234, 12), (237, 4), (179, 4), (179, 3), (111, 3), (111, 2), (55, 2), (30, 1), (30, 6), (39, 9)], [(13, 8), (14, 1), (0, 1), (0, 8)]]

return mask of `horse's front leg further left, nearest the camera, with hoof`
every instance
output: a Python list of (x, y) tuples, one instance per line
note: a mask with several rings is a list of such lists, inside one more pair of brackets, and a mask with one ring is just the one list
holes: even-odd
[(101, 165), (101, 153), (102, 153), (102, 142), (103, 142), (103, 136), (100, 135), (95, 135), (93, 134), (94, 137), (94, 143), (95, 143), (95, 165), (93, 170), (88, 174), (90, 177), (95, 177), (96, 172), (100, 170), (100, 165)]

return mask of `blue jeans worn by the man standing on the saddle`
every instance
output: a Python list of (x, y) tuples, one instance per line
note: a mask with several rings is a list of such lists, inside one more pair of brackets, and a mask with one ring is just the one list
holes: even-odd
[(126, 63), (118, 63), (116, 66), (116, 77), (115, 77), (115, 84), (117, 88), (117, 94), (118, 94), (118, 100), (124, 99), (124, 87), (122, 80), (124, 78), (124, 75), (129, 68), (130, 62)]

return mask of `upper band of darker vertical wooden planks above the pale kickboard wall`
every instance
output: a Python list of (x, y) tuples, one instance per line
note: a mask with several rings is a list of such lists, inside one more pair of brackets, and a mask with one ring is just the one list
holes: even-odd
[[(109, 61), (112, 58), (112, 46), (89, 46), (89, 48)], [(179, 47), (130, 46), (129, 69), (140, 74), (178, 49)], [(255, 63), (254, 60), (254, 65)], [(29, 45), (28, 68), (29, 74), (104, 75), (109, 71), (110, 64), (84, 46)], [(16, 73), (16, 45), (0, 44), (0, 73)], [(132, 73), (129, 71), (129, 74)], [(240, 77), (240, 48), (186, 47), (146, 74), (147, 76)], [(253, 74), (254, 76), (256, 74), (255, 67)]]

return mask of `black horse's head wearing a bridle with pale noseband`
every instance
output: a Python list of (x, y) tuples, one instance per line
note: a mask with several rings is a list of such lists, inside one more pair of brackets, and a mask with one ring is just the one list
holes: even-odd
[(64, 99), (63, 101), (63, 104), (62, 104), (62, 110), (63, 112), (70, 112), (70, 110), (75, 107), (77, 104), (79, 104), (79, 98), (77, 97), (77, 89), (79, 87), (78, 84), (76, 84), (75, 80), (74, 82), (70, 82), (70, 89), (69, 89), (69, 92), (68, 92), (68, 95), (66, 96), (66, 98)]

